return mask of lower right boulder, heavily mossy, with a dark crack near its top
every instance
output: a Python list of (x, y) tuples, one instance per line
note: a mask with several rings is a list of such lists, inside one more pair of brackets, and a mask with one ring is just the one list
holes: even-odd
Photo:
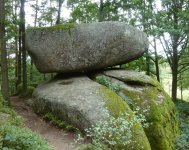
[(89, 76), (94, 80), (99, 76), (105, 77), (109, 85), (120, 88), (118, 95), (132, 110), (137, 106), (140, 108), (140, 113), (150, 123), (145, 133), (152, 150), (174, 149), (175, 138), (179, 135), (177, 110), (158, 81), (129, 69), (94, 71)]

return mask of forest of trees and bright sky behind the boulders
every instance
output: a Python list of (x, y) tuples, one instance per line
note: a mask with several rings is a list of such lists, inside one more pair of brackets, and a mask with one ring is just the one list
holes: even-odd
[[(25, 33), (35, 27), (65, 23), (119, 21), (142, 30), (150, 48), (138, 60), (123, 64), (156, 78), (176, 101), (189, 100), (188, 0), (0, 0), (1, 90), (5, 100), (23, 83), (38, 85), (54, 74), (37, 71), (25, 49)], [(157, 4), (161, 5), (161, 9)], [(25, 7), (27, 6), (27, 7)], [(61, 17), (67, 9), (70, 15)], [(4, 12), (3, 12), (4, 11)], [(5, 16), (5, 18), (4, 18)], [(27, 20), (32, 22), (26, 23)], [(115, 66), (119, 67), (119, 66)]]

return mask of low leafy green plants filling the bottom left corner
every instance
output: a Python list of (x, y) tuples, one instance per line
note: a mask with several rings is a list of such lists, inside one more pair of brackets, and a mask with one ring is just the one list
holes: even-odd
[(28, 128), (21, 128), (10, 123), (0, 126), (0, 148), (22, 150), (50, 150), (53, 149), (44, 142), (37, 133)]

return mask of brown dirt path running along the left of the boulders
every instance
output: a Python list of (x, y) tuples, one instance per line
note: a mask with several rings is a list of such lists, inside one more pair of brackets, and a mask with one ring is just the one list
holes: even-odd
[[(60, 129), (44, 121), (33, 112), (32, 108), (24, 106), (25, 100), (20, 99), (18, 96), (11, 97), (11, 102), (14, 104), (14, 110), (18, 115), (24, 118), (24, 126), (38, 132), (45, 141), (49, 142), (57, 150), (73, 150), (69, 145), (74, 142), (76, 133), (67, 132), (65, 129)], [(23, 106), (28, 108), (29, 111)]]

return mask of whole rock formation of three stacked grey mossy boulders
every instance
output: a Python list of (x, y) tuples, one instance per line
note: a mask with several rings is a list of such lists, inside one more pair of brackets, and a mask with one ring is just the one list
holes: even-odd
[[(143, 114), (152, 123), (150, 127), (144, 132), (137, 123), (132, 127), (136, 131), (132, 141), (137, 144), (119, 148), (174, 149), (178, 135), (176, 109), (157, 81), (133, 70), (89, 72), (138, 59), (148, 45), (143, 32), (120, 22), (64, 24), (31, 30), (26, 35), (26, 48), (37, 69), (42, 73), (60, 73), (35, 89), (32, 107), (38, 113), (51, 112), (84, 132), (102, 119), (106, 108), (117, 118), (127, 106), (133, 109), (132, 103), (142, 109), (150, 106), (150, 111)], [(76, 73), (81, 71), (85, 74)], [(119, 95), (124, 100), (87, 75), (94, 80), (105, 75), (113, 85), (121, 82)]]

